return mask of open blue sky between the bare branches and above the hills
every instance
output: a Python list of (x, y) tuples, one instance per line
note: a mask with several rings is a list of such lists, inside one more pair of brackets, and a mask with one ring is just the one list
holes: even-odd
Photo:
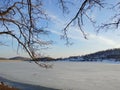
[[(54, 5), (53, 2), (54, 1)], [(68, 37), (70, 38), (70, 42), (73, 45), (66, 46), (65, 40), (60, 39), (62, 33), (62, 29), (65, 25), (70, 21), (70, 19), (75, 15), (75, 12), (78, 10), (78, 6), (80, 5), (80, 0), (73, 0), (76, 5), (70, 5), (70, 13), (63, 14), (59, 9), (57, 0), (45, 0), (44, 5), (46, 9), (46, 13), (50, 17), (50, 21), (48, 21), (48, 28), (51, 33), (45, 37), (53, 40), (54, 43), (49, 46), (48, 49), (42, 50), (42, 55), (50, 56), (50, 57), (68, 57), (68, 56), (76, 56), (76, 55), (84, 55), (88, 53), (93, 53), (100, 50), (106, 50), (111, 48), (119, 48), (120, 47), (120, 31), (119, 28), (117, 30), (101, 30), (98, 34), (95, 29), (92, 27), (89, 21), (85, 20), (84, 22), (84, 30), (87, 34), (88, 40), (83, 38), (81, 31), (77, 26), (70, 26), (68, 31)], [(118, 1), (118, 0), (116, 0)], [(114, 2), (114, 0), (109, 0), (109, 2)], [(109, 18), (109, 15), (112, 15), (111, 10), (99, 10), (93, 9), (93, 13), (90, 16), (97, 20), (98, 23), (105, 22), (106, 18)], [(89, 14), (89, 13), (88, 13)], [(44, 24), (44, 22), (43, 22)], [(19, 53), (16, 53), (16, 43), (14, 40), (9, 40), (8, 37), (1, 38), (7, 40), (9, 42), (8, 46), (0, 46), (0, 57), (12, 57), (12, 56), (28, 56), (23, 50), (20, 50)], [(13, 45), (11, 43), (13, 42)]]

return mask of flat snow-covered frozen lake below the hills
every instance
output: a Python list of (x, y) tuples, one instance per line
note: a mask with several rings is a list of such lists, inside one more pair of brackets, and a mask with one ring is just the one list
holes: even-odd
[(29, 62), (0, 62), (0, 76), (61, 90), (120, 90), (120, 64), (51, 62), (52, 69)]

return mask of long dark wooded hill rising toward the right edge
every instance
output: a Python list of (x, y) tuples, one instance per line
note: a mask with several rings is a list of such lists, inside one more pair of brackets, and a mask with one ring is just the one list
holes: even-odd
[(68, 58), (63, 58), (61, 60), (65, 61), (103, 61), (103, 60), (109, 60), (109, 61), (120, 61), (120, 48), (116, 49), (109, 49), (104, 51), (99, 51), (83, 56), (72, 56)]

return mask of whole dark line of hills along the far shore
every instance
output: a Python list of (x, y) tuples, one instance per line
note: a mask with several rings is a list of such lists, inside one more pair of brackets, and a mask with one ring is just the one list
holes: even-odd
[[(0, 58), (2, 60), (6, 60), (6, 58)], [(9, 58), (9, 60), (31, 60), (30, 58), (26, 57), (12, 57)], [(42, 58), (37, 58), (37, 61), (120, 61), (120, 48), (115, 48), (115, 49), (109, 49), (109, 50), (103, 50), (103, 51), (98, 51), (95, 53), (91, 54), (86, 54), (83, 56), (70, 56), (68, 58), (51, 58), (51, 57), (42, 57)], [(32, 61), (32, 60), (31, 60)]]

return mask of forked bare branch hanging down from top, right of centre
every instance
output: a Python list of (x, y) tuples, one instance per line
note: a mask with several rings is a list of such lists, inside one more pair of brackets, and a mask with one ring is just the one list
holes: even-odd
[(91, 23), (95, 23), (87, 14), (86, 12), (88, 10), (90, 10), (93, 6), (95, 5), (99, 5), (100, 7), (103, 7), (103, 4), (101, 3), (100, 0), (84, 0), (83, 3), (80, 5), (80, 8), (78, 10), (78, 12), (76, 13), (76, 15), (70, 20), (70, 22), (68, 22), (68, 24), (65, 26), (64, 28), (64, 38), (67, 38), (66, 40), (68, 41), (68, 36), (67, 36), (67, 31), (68, 31), (68, 27), (74, 22), (77, 21), (78, 23), (78, 27), (80, 29), (80, 31), (82, 32), (83, 36), (85, 39), (87, 39), (87, 36), (84, 32), (84, 30), (82, 29), (83, 27), (83, 16), (86, 16), (88, 18), (88, 20), (90, 20)]

